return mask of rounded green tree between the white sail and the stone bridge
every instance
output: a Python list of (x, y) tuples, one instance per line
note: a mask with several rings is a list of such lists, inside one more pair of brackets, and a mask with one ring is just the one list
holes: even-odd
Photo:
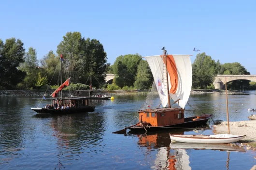
[(197, 54), (192, 64), (192, 87), (204, 89), (213, 83), (217, 74), (216, 63), (205, 52)]

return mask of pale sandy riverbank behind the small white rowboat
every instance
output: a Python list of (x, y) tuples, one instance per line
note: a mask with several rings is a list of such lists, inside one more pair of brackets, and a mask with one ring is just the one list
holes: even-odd
[[(241, 142), (256, 148), (256, 120), (229, 122), (229, 130), (230, 134), (246, 135)], [(228, 133), (228, 122), (224, 121), (219, 125), (213, 125), (213, 132), (215, 134)]]

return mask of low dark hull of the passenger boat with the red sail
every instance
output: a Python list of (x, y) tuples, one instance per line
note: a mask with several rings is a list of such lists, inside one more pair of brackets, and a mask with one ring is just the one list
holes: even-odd
[(83, 106), (83, 107), (70, 108), (70, 109), (31, 108), (31, 110), (34, 110), (37, 113), (50, 113), (53, 115), (93, 112), (94, 109), (95, 109), (95, 106)]

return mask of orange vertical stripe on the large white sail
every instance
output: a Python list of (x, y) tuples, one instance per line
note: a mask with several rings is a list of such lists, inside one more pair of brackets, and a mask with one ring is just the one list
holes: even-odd
[(172, 55), (166, 55), (167, 64), (165, 63), (165, 59), (163, 55), (161, 55), (164, 64), (167, 66), (167, 71), (170, 75), (170, 82), (171, 82), (171, 89), (170, 92), (174, 94), (177, 91), (178, 88), (178, 72), (175, 60)]

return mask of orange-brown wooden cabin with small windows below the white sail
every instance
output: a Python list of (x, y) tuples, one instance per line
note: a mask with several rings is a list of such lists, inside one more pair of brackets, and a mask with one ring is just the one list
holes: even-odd
[(139, 111), (139, 118), (143, 124), (149, 124), (149, 126), (168, 126), (184, 123), (184, 110), (183, 108), (146, 109)]

